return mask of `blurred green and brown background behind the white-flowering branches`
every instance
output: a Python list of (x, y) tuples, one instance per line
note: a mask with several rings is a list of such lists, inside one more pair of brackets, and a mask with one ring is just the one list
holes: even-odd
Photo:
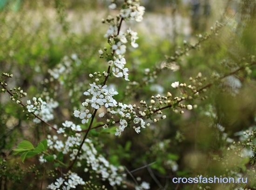
[[(58, 101), (51, 124), (65, 120), (80, 124), (72, 113), (84, 101), (82, 93), (91, 82), (88, 74), (107, 70), (98, 50), (108, 46), (103, 37), (108, 26), (101, 19), (118, 13), (108, 10), (110, 3), (0, 0), (0, 72), (13, 73), (8, 87), (20, 86), (27, 92), (24, 102), (34, 96)], [(255, 0), (141, 0), (141, 4), (146, 7), (143, 21), (122, 26), (131, 27), (139, 36), (139, 47), (128, 48), (126, 53), (130, 82), (108, 81), (119, 92), (117, 101), (133, 105), (141, 99), (150, 101), (157, 93), (175, 96), (179, 92), (171, 88), (172, 82), (189, 84), (189, 77), (202, 72), (207, 77), (204, 84), (208, 84), (213, 73), (222, 76), (244, 62), (255, 61)], [(216, 28), (216, 21), (221, 23), (217, 31), (211, 29)], [(207, 35), (210, 37), (202, 40), (201, 36)], [(185, 55), (177, 55), (176, 51), (187, 47)], [(172, 56), (177, 58), (168, 61)], [(70, 69), (56, 81), (51, 79), (49, 69), (67, 61), (72, 63)], [(147, 68), (149, 73), (145, 72)], [(232, 75), (205, 92), (203, 100), (191, 102), (198, 105), (197, 109), (183, 115), (166, 110), (167, 119), (140, 134), (129, 130), (116, 138), (99, 129), (89, 137), (100, 142), (97, 150), (112, 164), (133, 171), (133, 177), (128, 177), (131, 183), (134, 179), (147, 181), (152, 190), (256, 189), (256, 138), (248, 135), (256, 129), (255, 79), (255, 66)], [(140, 81), (148, 82), (141, 86)], [(38, 164), (36, 158), (21, 164), (11, 152), (22, 139), (36, 144), (46, 137), (43, 124), (34, 124), (31, 118), (7, 94), (0, 93), (0, 190), (40, 188), (46, 166)], [(47, 167), (43, 189), (53, 182), (53, 174), (58, 175), (50, 164)], [(173, 177), (197, 175), (250, 180), (246, 184), (172, 183)], [(81, 177), (89, 179), (88, 174)], [(91, 181), (112, 189), (106, 182)]]

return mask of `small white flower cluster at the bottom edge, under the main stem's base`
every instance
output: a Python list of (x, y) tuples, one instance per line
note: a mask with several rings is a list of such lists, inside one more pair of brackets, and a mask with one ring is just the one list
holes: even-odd
[(85, 182), (81, 177), (79, 177), (76, 173), (69, 171), (67, 174), (64, 174), (64, 178), (62, 177), (56, 179), (54, 183), (51, 183), (47, 186), (47, 189), (50, 190), (70, 190), (75, 189), (78, 185), (84, 185)]

